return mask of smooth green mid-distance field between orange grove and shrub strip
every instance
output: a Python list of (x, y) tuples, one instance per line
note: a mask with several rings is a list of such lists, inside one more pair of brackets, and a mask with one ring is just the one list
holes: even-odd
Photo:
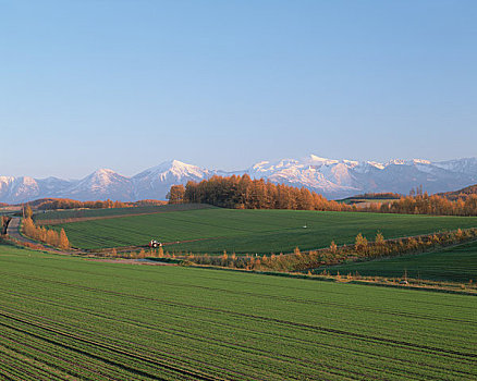
[[(303, 226), (306, 224), (306, 229)], [(81, 248), (146, 245), (150, 238), (164, 243), (166, 250), (218, 254), (290, 253), (353, 243), (358, 233), (374, 239), (427, 234), (442, 230), (477, 226), (477, 218), (404, 216), (364, 212), (302, 210), (203, 209), (82, 221), (64, 228), (70, 242)]]

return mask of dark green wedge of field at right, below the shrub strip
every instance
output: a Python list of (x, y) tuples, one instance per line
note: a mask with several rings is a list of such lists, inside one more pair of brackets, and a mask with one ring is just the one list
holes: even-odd
[[(321, 271), (321, 270), (319, 270)], [(377, 259), (333, 266), (327, 269), (331, 274), (357, 271), (362, 275), (400, 278), (407, 271), (409, 278), (436, 281), (477, 281), (477, 243), (453, 247), (442, 251), (414, 256)]]

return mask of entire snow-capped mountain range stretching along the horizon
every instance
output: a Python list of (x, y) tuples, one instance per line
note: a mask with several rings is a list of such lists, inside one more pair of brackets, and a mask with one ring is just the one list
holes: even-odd
[(100, 169), (82, 180), (57, 177), (0, 176), (0, 202), (19, 204), (38, 198), (62, 197), (77, 200), (166, 199), (171, 185), (200, 181), (215, 174), (247, 173), (253, 179), (305, 186), (327, 198), (343, 198), (370, 192), (407, 194), (423, 185), (430, 194), (456, 190), (477, 183), (477, 158), (432, 162), (428, 160), (353, 161), (306, 158), (261, 161), (244, 171), (203, 169), (178, 160), (163, 162), (132, 177)]

